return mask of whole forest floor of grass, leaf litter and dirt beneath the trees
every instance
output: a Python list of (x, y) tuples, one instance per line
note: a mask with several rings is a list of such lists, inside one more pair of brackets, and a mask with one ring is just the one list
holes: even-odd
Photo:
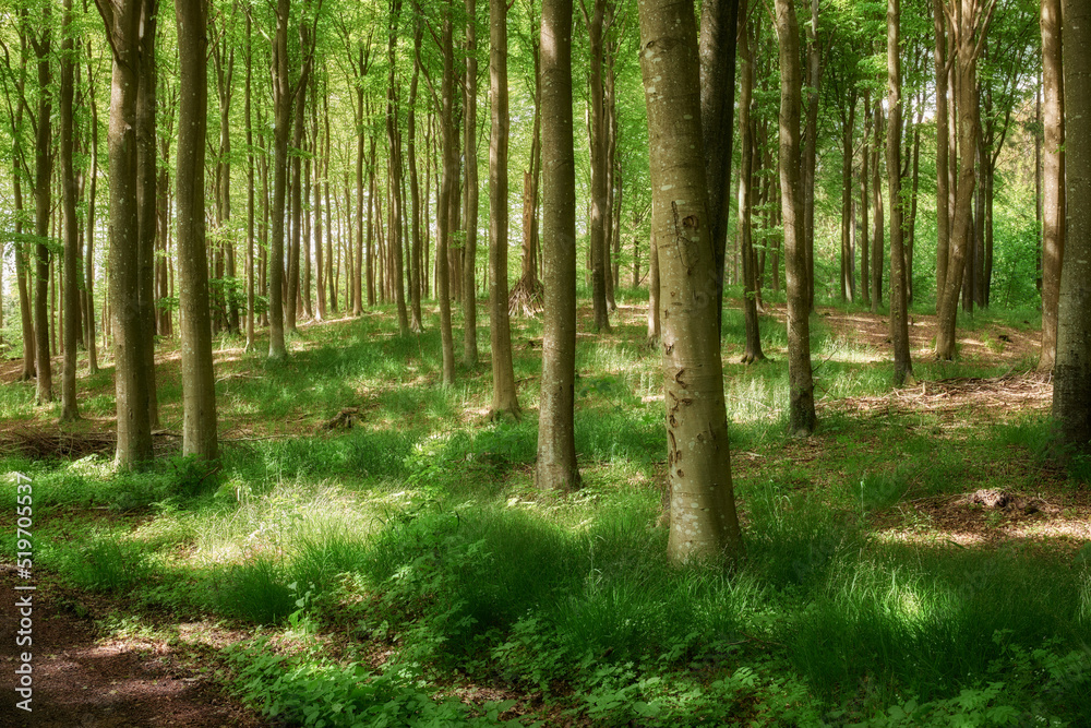
[[(580, 315), (586, 319), (588, 312)], [(337, 712), (346, 715), (350, 711), (344, 706), (355, 706), (360, 716), (370, 716), (359, 725), (371, 725), (375, 716), (389, 725), (524, 725), (519, 719), (547, 726), (715, 725), (729, 719), (840, 725), (870, 716), (876, 720), (873, 712), (884, 714), (887, 706), (902, 709), (911, 694), (920, 695), (922, 704), (925, 696), (933, 699), (926, 704), (931, 713), (922, 707), (925, 712), (916, 714), (924, 725), (928, 716), (939, 720), (959, 715), (944, 703), (958, 696), (952, 684), (963, 690), (963, 697), (967, 690), (980, 690), (983, 696), (973, 695), (983, 711), (999, 707), (1003, 701), (981, 687), (992, 684), (990, 679), (1007, 681), (1019, 715), (1045, 715), (1038, 703), (1019, 704), (1024, 695), (1015, 689), (1035, 694), (1020, 676), (1048, 672), (1054, 657), (1029, 657), (1018, 645), (1008, 646), (1003, 635), (1011, 632), (1035, 644), (1046, 640), (1055, 645), (1057, 660), (1078, 661), (1080, 655), (1091, 659), (1091, 492), (1082, 485), (1087, 477), (1079, 467), (1063, 468), (1052, 456), (1052, 383), (1033, 369), (1039, 331), (1031, 315), (985, 312), (963, 321), (960, 357), (951, 363), (931, 360), (935, 319), (914, 313), (916, 382), (895, 391), (888, 386), (887, 318), (859, 307), (819, 307), (812, 321), (822, 425), (815, 437), (793, 440), (782, 433), (783, 306), (770, 303), (763, 317), (771, 361), (752, 367), (736, 363), (741, 317), (727, 312), (732, 470), (751, 559), (766, 562), (755, 571), (753, 588), (765, 595), (762, 599), (778, 604), (776, 609), (754, 606), (757, 597), (743, 594), (751, 576), (728, 596), (717, 590), (727, 586), (714, 586), (707, 582), (710, 577), (699, 574), (693, 576), (699, 586), (678, 586), (679, 575), (648, 566), (647, 554), (631, 553), (637, 547), (626, 539), (643, 541), (639, 548), (646, 548), (647, 534), (654, 533), (650, 544), (658, 544), (661, 529), (648, 528), (662, 522), (658, 357), (644, 343), (644, 307), (638, 300), (622, 301), (610, 334), (594, 335), (585, 333), (588, 325), (580, 327), (577, 406), (591, 423), (577, 435), (585, 489), (572, 500), (542, 497), (529, 482), (537, 419), (532, 411), (519, 422), (489, 421), (484, 327), (482, 363), (460, 367), (461, 384), (453, 392), (435, 386), (434, 330), (401, 339), (392, 333), (389, 311), (368, 313), (362, 321), (301, 326), (292, 341), (291, 363), (284, 367), (271, 367), (261, 354), (243, 351), (238, 339), (221, 338), (216, 356), (225, 460), (217, 473), (175, 454), (179, 442), (173, 433), (181, 419), (177, 351), (164, 348), (157, 357), (161, 462), (149, 474), (111, 474), (110, 369), (81, 377), (84, 418), (58, 428), (55, 407), (35, 407), (33, 384), (16, 382), (21, 362), (2, 362), (0, 450), (10, 457), (0, 466), (35, 479), (40, 500), (35, 528), (41, 546), (36, 546), (34, 721), (0, 705), (0, 726), (203, 728), (322, 725), (315, 723), (322, 719), (332, 721), (326, 725), (356, 725), (308, 713), (309, 699), (292, 696), (300, 690), (331, 695), (331, 703), (317, 705), (340, 705)], [(516, 378), (524, 407), (532, 410), (540, 325), (517, 320), (515, 326)], [(14, 498), (10, 505), (7, 500), (7, 512), (14, 513)], [(481, 509), (485, 515), (467, 509)], [(443, 536), (452, 514), (459, 534), (468, 529), (482, 540), (455, 537), (455, 532)], [(490, 548), (493, 556), (487, 561), (503, 561), (505, 547), (494, 539), (512, 527), (505, 525), (509, 517), (535, 533), (559, 529), (550, 538), (563, 540), (571, 534), (576, 539), (568, 546), (528, 541), (516, 551), (560, 549), (556, 560), (583, 563), (584, 547), (578, 544), (589, 542), (589, 573), (599, 573), (597, 578), (612, 578), (609, 551), (620, 549), (619, 573), (634, 560), (644, 563), (652, 575), (642, 576), (639, 588), (658, 595), (659, 601), (640, 607), (624, 582), (610, 587), (621, 589), (613, 597), (600, 594), (590, 582), (577, 586), (568, 601), (578, 606), (578, 617), (565, 616), (560, 602), (482, 596), (480, 581), (488, 576), (460, 581), (461, 572), (480, 569), (476, 561), (466, 561), (467, 554)], [(532, 523), (518, 521), (524, 517)], [(856, 548), (854, 537), (834, 535), (849, 521), (856, 524), (849, 530), (859, 532), (860, 544), (867, 545), (859, 547), (861, 554), (870, 554), (859, 562), (846, 556), (846, 549)], [(14, 520), (4, 515), (2, 522)], [(596, 530), (599, 522), (601, 533)], [(763, 534), (778, 528), (782, 544), (768, 542)], [(635, 530), (626, 535), (625, 529)], [(461, 538), (469, 540), (463, 545)], [(601, 565), (595, 565), (596, 539), (607, 553)], [(796, 551), (778, 551), (786, 548)], [(449, 556), (437, 556), (433, 564), (429, 554), (445, 549), (451, 549)], [(313, 565), (309, 559), (321, 563)], [(904, 563), (883, 565), (891, 559)], [(14, 594), (16, 574), (9, 559), (3, 561), (3, 590)], [(329, 565), (343, 561), (356, 565)], [(871, 596), (838, 593), (835, 566), (842, 561), (842, 566), (864, 569), (861, 573), (875, 572)], [(971, 584), (970, 601), (976, 605), (995, 601), (995, 594), (1014, 588), (1009, 578), (1028, 569), (1041, 571), (1042, 564), (1056, 564), (1045, 568), (1041, 578), (1075, 589), (1064, 594), (1078, 604), (1064, 613), (1034, 617), (1055, 628), (1048, 635), (1020, 626), (1022, 618), (1015, 612), (996, 622), (995, 633), (982, 637), (982, 644), (997, 645), (992, 661), (974, 661), (957, 649), (945, 657), (963, 665), (956, 669), (970, 669), (972, 679), (921, 682), (915, 668), (874, 655), (844, 658), (860, 665), (830, 665), (793, 645), (783, 631), (805, 632), (808, 613), (828, 620), (844, 612), (844, 599), (890, 598), (876, 596), (887, 588), (878, 585), (889, 576), (900, 584), (889, 588), (904, 592), (898, 597), (903, 606), (910, 598), (906, 594), (919, 594), (914, 600), (939, 599), (925, 595), (950, 588), (943, 576), (948, 573), (951, 583)], [(532, 564), (530, 573), (548, 581), (549, 569), (537, 573), (541, 569)], [(517, 584), (518, 577), (513, 578)], [(853, 583), (868, 578), (858, 576)], [(656, 590), (656, 580), (662, 580), (662, 593)], [(304, 583), (310, 588), (301, 586)], [(695, 614), (686, 618), (691, 621), (671, 629), (692, 630), (696, 643), (648, 625), (623, 626), (606, 613), (594, 616), (612, 605), (609, 611), (621, 612), (616, 619), (622, 620), (632, 602), (637, 605), (634, 610), (648, 609), (663, 619), (659, 610), (673, 604), (674, 588), (688, 589), (695, 604), (711, 599), (708, 604), (735, 605), (724, 609), (738, 613), (730, 626), (714, 628), (703, 621), (709, 617), (696, 613), (703, 608), (694, 607)], [(447, 590), (465, 594), (448, 600)], [(620, 594), (628, 595), (624, 604), (616, 601)], [(1012, 597), (1012, 604), (1033, 598)], [(1010, 609), (1018, 611), (1017, 606)], [(865, 607), (860, 607), (861, 613), (872, 608)], [(823, 611), (827, 608), (830, 611)], [(874, 608), (877, 614), (887, 613), (890, 606), (884, 601)], [(508, 611), (512, 616), (504, 617)], [(946, 612), (937, 608), (935, 613)], [(958, 612), (956, 621), (963, 618)], [(582, 619), (588, 620), (586, 625)], [(644, 612), (631, 614), (632, 623), (644, 624), (646, 619)], [(870, 623), (866, 620), (879, 618), (861, 619)], [(992, 618), (967, 619), (992, 624)], [(2, 620), (0, 659), (13, 663), (13, 598), (4, 601)], [(466, 626), (475, 622), (481, 632)], [(489, 632), (485, 622), (494, 622)], [(546, 629), (544, 623), (553, 626)], [(465, 633), (467, 629), (473, 634)], [(650, 636), (640, 630), (650, 631)], [(861, 626), (847, 623), (844, 630), (854, 635)], [(730, 640), (717, 642), (706, 633)], [(825, 649), (837, 653), (837, 631), (831, 634)], [(1074, 636), (1079, 634), (1083, 636)], [(1048, 642), (1057, 635), (1064, 641)], [(875, 645), (890, 640), (900, 644), (878, 634)], [(1082, 653), (1067, 652), (1079, 648), (1080, 640)], [(481, 653), (470, 646), (475, 641), (491, 646)], [(645, 647), (636, 648), (633, 641)], [(717, 646), (721, 644), (728, 646)], [(923, 651), (914, 659), (935, 657), (928, 651), (937, 648), (912, 644), (912, 649)], [(584, 647), (573, 645), (599, 645), (598, 657), (579, 663), (578, 649)], [(891, 648), (875, 645), (879, 652)], [(645, 648), (651, 652), (645, 654)], [(964, 648), (990, 652), (972, 644)], [(762, 656), (767, 652), (771, 656)], [(997, 678), (991, 666), (1004, 659), (1014, 667), (1004, 668), (1008, 671)], [(688, 672), (682, 667), (686, 664)], [(746, 681), (750, 673), (741, 673), (740, 664), (751, 666), (746, 669), (754, 671), (756, 682)], [(365, 699), (350, 689), (344, 692), (325, 671), (337, 665), (341, 672), (345, 666), (363, 666), (361, 679), (379, 694)], [(295, 682), (275, 681), (280, 675), (292, 676)], [(799, 678), (786, 682), (776, 675)], [(649, 676), (662, 682), (649, 682)], [(717, 676), (719, 682), (714, 682)], [(1060, 695), (1048, 705), (1060, 716), (1079, 709), (1070, 707), (1063, 689), (1082, 690), (1084, 678), (1091, 680), (1091, 661), (1065, 676), (1050, 693)], [(708, 704), (693, 691), (707, 693)], [(783, 707), (775, 706), (781, 703)], [(279, 717), (268, 717), (271, 713)]]

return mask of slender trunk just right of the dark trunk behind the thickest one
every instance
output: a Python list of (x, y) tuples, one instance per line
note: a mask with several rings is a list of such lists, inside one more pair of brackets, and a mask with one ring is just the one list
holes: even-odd
[[(741, 158), (739, 170), (739, 255), (742, 258), (743, 267), (743, 317), (746, 327), (746, 351), (743, 354), (742, 360), (743, 363), (754, 363), (765, 359), (765, 354), (762, 351), (762, 331), (757, 318), (757, 272), (753, 244), (754, 156), (756, 150), (754, 148), (754, 123), (751, 119), (751, 106), (754, 97), (754, 56), (751, 52), (750, 23), (746, 22), (746, 0), (741, 0), (738, 21), (739, 57), (742, 70), (739, 99), (739, 151)], [(705, 168), (707, 170), (708, 166), (706, 165)], [(715, 184), (709, 186), (709, 190), (715, 187)], [(719, 313), (721, 327), (722, 315), (721, 310)]]

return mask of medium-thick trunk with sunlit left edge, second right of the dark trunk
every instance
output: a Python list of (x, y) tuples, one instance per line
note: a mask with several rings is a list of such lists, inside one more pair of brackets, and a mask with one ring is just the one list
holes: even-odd
[(814, 378), (811, 370), (811, 307), (806, 300), (806, 247), (800, 202), (800, 28), (792, 0), (776, 0), (780, 38), (780, 208), (788, 277), (788, 420), (792, 434), (814, 432)]

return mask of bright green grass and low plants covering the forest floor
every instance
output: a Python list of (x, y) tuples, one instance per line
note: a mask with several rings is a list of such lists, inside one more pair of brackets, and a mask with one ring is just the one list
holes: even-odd
[[(963, 324), (984, 341), (997, 326), (1024, 330), (1029, 314)], [(482, 416), (485, 323), (482, 365), (459, 365), (449, 389), (437, 385), (434, 319), (401, 337), (388, 308), (302, 329), (283, 363), (235, 356), (217, 371), (221, 418), (278, 437), (225, 443), (215, 473), (182, 458), (118, 473), (108, 457), (9, 457), (0, 470), (32, 478), (41, 565), (74, 586), (127, 608), (261, 625), (232, 657), (238, 684), (307, 725), (334, 706), (388, 725), (502, 723), (506, 703), (448, 700), (463, 683), (533, 694), (538, 718), (604, 726), (999, 725), (1005, 711), (1080, 725), (1091, 713), (1087, 559), (1019, 539), (958, 547), (923, 521), (923, 537), (903, 542), (876, 525), (909, 523), (914, 499), (1034, 491), (1054, 457), (1043, 414), (967, 409), (956, 427), (937, 413), (839, 406), (886, 395), (892, 370), (819, 315), (820, 429), (791, 440), (784, 327), (763, 318), (770, 361), (739, 365), (742, 314), (729, 307), (724, 393), (746, 558), (734, 570), (675, 566), (661, 513), (661, 351), (646, 346), (643, 320), (580, 338), (584, 488), (570, 496), (531, 481), (540, 322), (513, 319), (525, 413), (499, 421)], [(914, 362), (916, 377), (1010, 369), (988, 351)], [(170, 421), (181, 392), (166, 373)], [(85, 411), (111, 414), (108, 374), (81, 386)], [(45, 417), (32, 399), (31, 385), (4, 387), (0, 416)], [(359, 409), (351, 429), (317, 428), (346, 407)], [(1080, 482), (1074, 473), (1060, 487)], [(376, 652), (385, 666), (361, 667)]]

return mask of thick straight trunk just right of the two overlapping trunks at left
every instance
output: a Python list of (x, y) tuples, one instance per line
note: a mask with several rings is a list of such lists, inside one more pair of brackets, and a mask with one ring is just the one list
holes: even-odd
[(182, 311), (182, 454), (214, 461), (218, 456), (216, 381), (212, 358), (204, 215), (208, 108), (205, 2), (192, 0), (175, 5), (181, 76), (178, 107), (178, 273)]

